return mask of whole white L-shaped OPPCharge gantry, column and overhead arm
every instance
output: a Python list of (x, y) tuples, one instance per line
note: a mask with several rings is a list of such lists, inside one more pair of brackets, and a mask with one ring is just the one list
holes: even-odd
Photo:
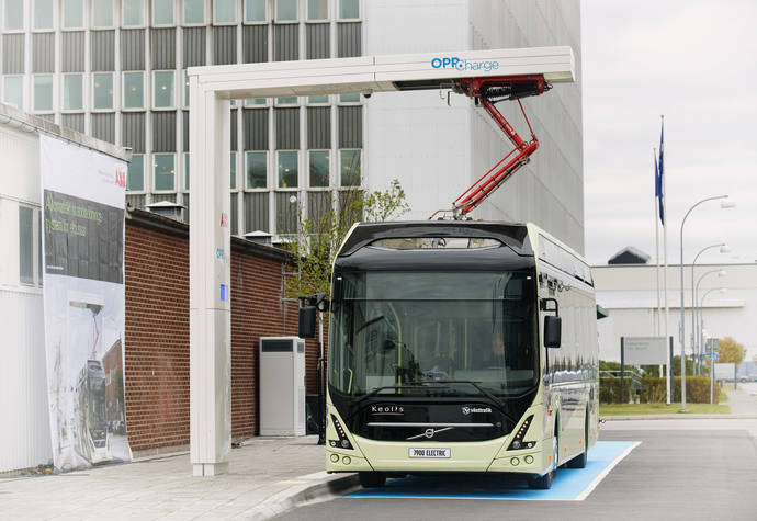
[[(569, 47), (190, 67), (190, 443), (193, 474), (231, 446), (229, 100), (442, 89), (474, 77), (574, 81)], [(280, 331), (271, 331), (280, 332)]]

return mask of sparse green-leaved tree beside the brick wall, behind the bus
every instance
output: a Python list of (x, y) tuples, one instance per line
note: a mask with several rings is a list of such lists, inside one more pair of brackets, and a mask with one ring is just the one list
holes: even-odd
[[(393, 220), (410, 207), (398, 180), (384, 191), (364, 192), (351, 189), (338, 192), (337, 205), (312, 208), (310, 215), (300, 216), (300, 234), (285, 249), (292, 254), (294, 274), (285, 280), (287, 297), (331, 294), (329, 275), (334, 258), (352, 225), (364, 219), (370, 223)], [(330, 203), (330, 202), (329, 202)]]

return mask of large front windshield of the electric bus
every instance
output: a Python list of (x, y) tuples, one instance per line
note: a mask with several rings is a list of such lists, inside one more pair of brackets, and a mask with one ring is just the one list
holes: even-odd
[(335, 276), (329, 384), (342, 395), (501, 397), (539, 382), (533, 271)]

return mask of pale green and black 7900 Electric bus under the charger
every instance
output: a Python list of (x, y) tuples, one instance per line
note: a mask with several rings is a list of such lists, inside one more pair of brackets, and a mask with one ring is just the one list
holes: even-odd
[(550, 488), (598, 434), (587, 263), (532, 224), (361, 223), (332, 272), (326, 469), (517, 473)]

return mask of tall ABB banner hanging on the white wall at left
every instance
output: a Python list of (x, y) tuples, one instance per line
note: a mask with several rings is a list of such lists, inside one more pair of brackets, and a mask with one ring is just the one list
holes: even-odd
[(39, 135), (45, 351), (55, 467), (128, 461), (126, 162)]

